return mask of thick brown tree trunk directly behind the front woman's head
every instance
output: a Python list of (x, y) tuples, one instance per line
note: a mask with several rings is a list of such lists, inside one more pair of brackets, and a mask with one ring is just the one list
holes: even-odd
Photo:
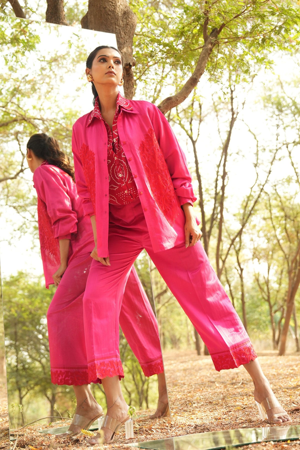
[[(126, 0), (89, 0), (88, 13), (81, 19), (82, 28), (116, 35), (118, 49), (123, 56), (124, 93), (127, 99), (132, 99), (135, 91), (132, 45), (136, 24), (137, 18)], [(99, 45), (106, 44), (99, 42)]]

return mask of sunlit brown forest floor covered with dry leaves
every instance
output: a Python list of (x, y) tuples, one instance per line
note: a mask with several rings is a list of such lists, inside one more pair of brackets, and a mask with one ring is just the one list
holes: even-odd
[[(269, 378), (275, 395), (291, 415), (293, 425), (300, 424), (300, 355), (276, 356), (275, 352), (261, 352), (260, 363)], [(216, 372), (210, 356), (196, 356), (192, 351), (164, 354), (164, 363), (172, 419), (148, 419), (149, 411), (139, 411), (134, 424), (134, 439), (125, 439), (121, 428), (111, 445), (94, 446), (97, 450), (120, 450), (130, 442), (148, 441), (192, 433), (237, 428), (266, 427), (269, 424), (258, 416), (253, 401), (253, 384), (245, 369)], [(152, 413), (152, 411), (151, 411)], [(60, 423), (66, 425), (67, 422)], [(59, 426), (56, 422), (54, 427)], [(40, 434), (41, 425), (27, 429), (11, 430), (13, 450), (46, 450), (59, 448), (88, 448), (88, 437), (59, 439), (54, 435)], [(49, 428), (49, 427), (47, 427)], [(0, 447), (4, 448), (4, 447)], [(89, 447), (90, 448), (90, 447)], [(131, 447), (132, 448), (132, 447)], [(300, 440), (268, 442), (239, 447), (247, 450), (300, 450)]]

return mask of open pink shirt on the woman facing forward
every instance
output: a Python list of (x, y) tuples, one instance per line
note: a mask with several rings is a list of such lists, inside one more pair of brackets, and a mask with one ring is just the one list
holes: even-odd
[[(166, 117), (152, 103), (128, 100), (117, 128), (134, 177), (154, 252), (185, 241), (180, 205), (196, 201), (184, 152)], [(109, 175), (107, 131), (93, 111), (73, 126), (72, 151), (77, 191), (85, 214), (96, 214), (99, 257), (108, 256)]]

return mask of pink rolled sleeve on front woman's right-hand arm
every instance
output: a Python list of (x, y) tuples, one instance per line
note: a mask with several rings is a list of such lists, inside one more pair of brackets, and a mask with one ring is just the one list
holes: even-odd
[(197, 198), (193, 192), (192, 177), (188, 171), (184, 152), (166, 117), (155, 105), (153, 105), (152, 125), (165, 157), (179, 204), (191, 203), (193, 205)]

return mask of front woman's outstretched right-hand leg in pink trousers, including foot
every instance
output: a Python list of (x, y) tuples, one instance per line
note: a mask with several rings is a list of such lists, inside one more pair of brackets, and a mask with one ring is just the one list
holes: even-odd
[[(188, 248), (180, 244), (158, 253), (154, 253), (148, 243), (146, 250), (205, 342), (216, 370), (244, 365), (253, 379), (256, 401), (260, 403), (273, 395), (246, 330), (210, 266), (201, 243)], [(289, 419), (278, 404), (267, 414), (271, 419), (273, 414), (280, 413), (282, 416), (273, 422), (282, 423)]]

